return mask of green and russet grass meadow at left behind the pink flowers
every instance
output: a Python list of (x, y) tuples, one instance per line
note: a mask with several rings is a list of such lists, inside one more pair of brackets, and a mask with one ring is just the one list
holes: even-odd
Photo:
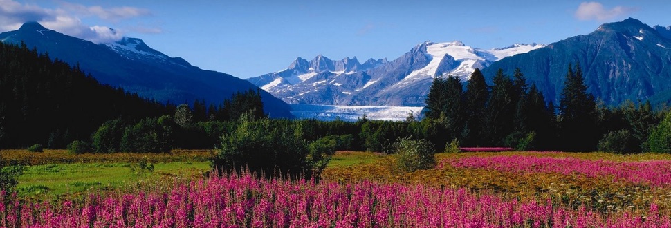
[[(64, 150), (32, 153), (3, 150), (3, 157), (25, 164), (17, 191), (21, 198), (54, 199), (89, 191), (118, 191), (160, 178), (199, 176), (210, 170), (210, 151), (74, 155)], [(153, 170), (138, 168), (138, 162)]]

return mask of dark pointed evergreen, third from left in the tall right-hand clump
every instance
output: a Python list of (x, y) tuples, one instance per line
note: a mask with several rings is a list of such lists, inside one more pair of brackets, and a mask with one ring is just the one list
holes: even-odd
[(485, 143), (483, 141), (485, 138), (484, 132), (487, 131), (484, 125), (486, 121), (485, 108), (487, 99), (489, 98), (489, 91), (487, 90), (485, 77), (478, 68), (473, 71), (468, 79), (464, 97), (464, 115), (466, 117), (466, 125), (468, 126), (465, 129), (468, 135), (464, 135), (466, 137), (463, 140), (463, 144), (479, 146)]

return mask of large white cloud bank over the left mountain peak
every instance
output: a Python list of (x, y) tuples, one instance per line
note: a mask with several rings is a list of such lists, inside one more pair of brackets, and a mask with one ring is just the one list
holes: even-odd
[[(37, 21), (46, 28), (100, 44), (120, 40), (123, 37), (123, 32), (118, 32), (107, 26), (86, 25), (82, 23), (82, 17), (94, 16), (106, 21), (117, 22), (122, 19), (151, 15), (148, 10), (133, 7), (88, 7), (66, 2), (62, 2), (60, 6), (60, 8), (49, 9), (37, 5), (22, 4), (13, 0), (0, 0), (0, 32), (17, 30), (23, 23)], [(147, 33), (160, 32), (160, 28), (131, 30)]]

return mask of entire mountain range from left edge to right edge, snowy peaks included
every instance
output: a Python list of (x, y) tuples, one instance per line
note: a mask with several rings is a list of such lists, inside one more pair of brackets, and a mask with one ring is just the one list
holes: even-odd
[(453, 75), (465, 82), (475, 68), (488, 81), (499, 68), (508, 75), (520, 68), (548, 102), (558, 104), (567, 67), (576, 63), (587, 91), (607, 105), (626, 100), (671, 104), (671, 26), (651, 27), (631, 18), (549, 45), (486, 50), (461, 41), (426, 41), (392, 61), (299, 57), (284, 70), (246, 80), (202, 70), (136, 38), (93, 44), (30, 22), (1, 33), (0, 41), (24, 42), (52, 58), (78, 64), (102, 83), (160, 102), (204, 99), (218, 104), (232, 93), (262, 88), (271, 117), (291, 117), (288, 104), (424, 106), (434, 77)]

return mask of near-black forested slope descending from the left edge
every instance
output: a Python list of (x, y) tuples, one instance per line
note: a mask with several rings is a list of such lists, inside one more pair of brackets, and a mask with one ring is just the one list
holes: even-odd
[(0, 44), (0, 147), (63, 148), (102, 122), (172, 115), (174, 108), (100, 84), (77, 66), (24, 45)]

